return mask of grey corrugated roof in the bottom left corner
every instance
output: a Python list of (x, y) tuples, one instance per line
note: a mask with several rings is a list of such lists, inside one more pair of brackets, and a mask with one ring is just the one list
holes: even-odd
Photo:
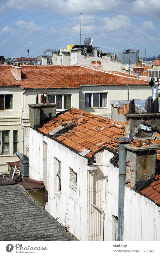
[(0, 187), (0, 241), (76, 241), (20, 185)]

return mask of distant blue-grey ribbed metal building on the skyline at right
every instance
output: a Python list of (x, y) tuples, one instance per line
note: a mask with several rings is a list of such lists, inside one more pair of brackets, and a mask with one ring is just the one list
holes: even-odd
[(139, 50), (135, 49), (126, 49), (123, 52), (118, 52), (118, 59), (121, 60), (123, 65), (129, 64), (135, 65), (136, 62), (139, 62)]

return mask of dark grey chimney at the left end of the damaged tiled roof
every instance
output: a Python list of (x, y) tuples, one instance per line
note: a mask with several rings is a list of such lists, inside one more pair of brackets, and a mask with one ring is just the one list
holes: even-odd
[(41, 128), (48, 121), (56, 116), (55, 103), (39, 103), (29, 105), (29, 122), (33, 129)]

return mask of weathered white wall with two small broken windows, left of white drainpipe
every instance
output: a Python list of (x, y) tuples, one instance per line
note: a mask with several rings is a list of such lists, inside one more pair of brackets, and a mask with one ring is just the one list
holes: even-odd
[[(43, 141), (47, 137), (29, 128), (30, 178), (43, 180)], [(36, 152), (36, 154), (35, 154)], [(61, 161), (61, 194), (57, 192), (54, 157)], [(48, 139), (48, 211), (81, 241), (87, 239), (87, 159)], [(77, 173), (77, 191), (70, 186), (69, 168)], [(66, 215), (67, 214), (67, 215)]]

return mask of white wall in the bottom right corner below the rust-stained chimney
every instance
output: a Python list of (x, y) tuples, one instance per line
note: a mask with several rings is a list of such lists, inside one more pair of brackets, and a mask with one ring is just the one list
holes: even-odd
[(124, 241), (160, 241), (160, 207), (125, 186)]

